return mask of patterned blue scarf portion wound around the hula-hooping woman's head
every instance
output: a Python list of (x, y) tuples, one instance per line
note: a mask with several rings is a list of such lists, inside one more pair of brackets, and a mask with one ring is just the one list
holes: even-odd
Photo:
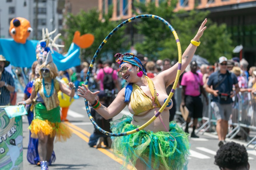
[(147, 73), (145, 71), (144, 65), (141, 63), (141, 60), (139, 60), (137, 56), (135, 56), (133, 53), (125, 53), (125, 54), (117, 53), (115, 54), (114, 57), (116, 57), (115, 62), (120, 64), (119, 67), (121, 67), (123, 63), (127, 62), (127, 63), (130, 63), (131, 65), (138, 66), (143, 71), (143, 74), (147, 76)]

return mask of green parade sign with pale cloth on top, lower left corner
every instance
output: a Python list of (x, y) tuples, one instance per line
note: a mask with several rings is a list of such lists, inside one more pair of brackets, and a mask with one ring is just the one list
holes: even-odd
[(21, 115), (24, 114), (23, 105), (0, 108), (0, 169), (23, 169)]

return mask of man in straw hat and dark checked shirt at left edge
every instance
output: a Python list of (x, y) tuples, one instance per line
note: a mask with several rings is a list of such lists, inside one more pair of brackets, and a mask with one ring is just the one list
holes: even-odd
[(10, 105), (10, 92), (14, 92), (14, 80), (10, 73), (5, 71), (5, 67), (10, 64), (4, 56), (0, 55), (0, 105)]

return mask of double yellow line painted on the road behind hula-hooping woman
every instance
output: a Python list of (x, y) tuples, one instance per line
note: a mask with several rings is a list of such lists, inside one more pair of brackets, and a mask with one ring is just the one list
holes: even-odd
[[(70, 129), (73, 131), (73, 133), (78, 135), (78, 137), (80, 137), (81, 139), (83, 139), (87, 143), (89, 142), (88, 137), (90, 137), (90, 135), (91, 135), (89, 132), (87, 132), (86, 130), (83, 130), (82, 128), (79, 128), (76, 125), (71, 124), (70, 122), (66, 121), (65, 124), (67, 124), (70, 127)], [(87, 135), (88, 137), (86, 137), (83, 134)], [(113, 159), (114, 161), (116, 161), (120, 164), (123, 164), (122, 159), (116, 158), (115, 155), (113, 155), (113, 153), (110, 152), (110, 151), (113, 151), (112, 149), (110, 149), (110, 151), (108, 151), (107, 149), (104, 149), (104, 148), (98, 148), (98, 150), (101, 151), (102, 153), (104, 153), (105, 155), (107, 155), (109, 158)], [(128, 169), (133, 169), (133, 167), (130, 166), (130, 165), (128, 165), (127, 168)]]

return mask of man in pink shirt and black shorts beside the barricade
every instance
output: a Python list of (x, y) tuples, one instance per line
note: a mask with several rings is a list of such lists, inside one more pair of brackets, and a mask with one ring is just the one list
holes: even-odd
[(193, 131), (191, 137), (198, 138), (198, 136), (195, 135), (197, 119), (203, 116), (203, 103), (200, 95), (203, 93), (206, 99), (207, 96), (203, 88), (203, 76), (197, 73), (197, 62), (192, 61), (190, 63), (190, 71), (184, 73), (180, 85), (183, 86), (182, 105), (185, 105), (189, 111), (185, 132), (188, 133), (188, 124), (190, 123), (191, 117), (193, 117)]

